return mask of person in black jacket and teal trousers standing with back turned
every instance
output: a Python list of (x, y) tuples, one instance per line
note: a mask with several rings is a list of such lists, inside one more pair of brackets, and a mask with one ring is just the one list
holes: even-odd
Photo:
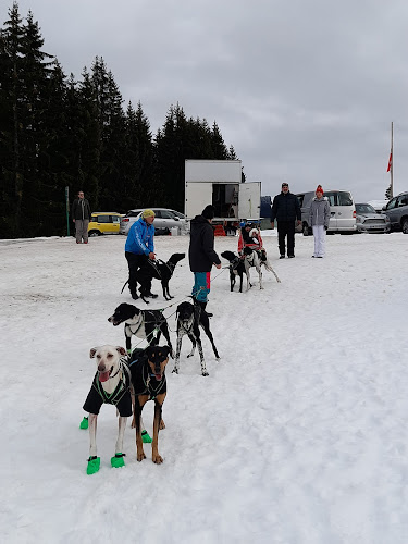
[(201, 215), (196, 215), (190, 223), (190, 240), (188, 249), (189, 268), (194, 273), (193, 298), (205, 310), (210, 293), (211, 268), (221, 269), (221, 261), (214, 251), (214, 231), (212, 220), (214, 207), (209, 205)]

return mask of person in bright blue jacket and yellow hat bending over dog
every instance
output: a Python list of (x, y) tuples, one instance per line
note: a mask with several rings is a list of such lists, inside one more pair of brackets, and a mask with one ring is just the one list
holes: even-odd
[[(125, 257), (128, 264), (128, 288), (134, 300), (139, 298), (136, 292), (137, 271), (148, 259), (153, 261), (156, 258), (153, 221), (153, 210), (145, 210), (138, 221), (131, 226), (125, 244)], [(149, 292), (145, 296), (157, 297), (151, 293), (151, 279)]]

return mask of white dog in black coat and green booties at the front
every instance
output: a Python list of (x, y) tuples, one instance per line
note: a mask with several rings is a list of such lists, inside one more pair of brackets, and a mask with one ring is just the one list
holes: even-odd
[[(102, 404), (114, 405), (119, 412), (119, 433), (115, 455), (111, 458), (112, 467), (123, 467), (123, 436), (126, 421), (132, 416), (131, 372), (125, 357), (126, 350), (120, 346), (94, 347), (89, 357), (97, 360), (97, 372), (84, 404), (89, 412), (89, 459), (87, 473), (98, 472), (100, 457), (97, 457), (97, 419)], [(143, 423), (141, 423), (143, 424)]]

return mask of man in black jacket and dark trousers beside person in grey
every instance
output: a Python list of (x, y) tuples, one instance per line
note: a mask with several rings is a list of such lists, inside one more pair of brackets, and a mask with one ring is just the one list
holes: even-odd
[(287, 236), (287, 257), (295, 257), (295, 222), (301, 224), (301, 210), (296, 195), (289, 191), (287, 183), (282, 184), (282, 191), (273, 199), (271, 226), (275, 227), (277, 221), (277, 245), (281, 257), (285, 258), (285, 238)]

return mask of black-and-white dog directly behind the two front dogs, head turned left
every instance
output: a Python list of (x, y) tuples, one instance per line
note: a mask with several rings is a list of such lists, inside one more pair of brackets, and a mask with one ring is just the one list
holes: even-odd
[[(170, 354), (173, 357), (173, 347), (170, 342), (168, 321), (161, 310), (139, 310), (136, 306), (123, 302), (118, 306), (113, 316), (108, 321), (114, 326), (125, 324), (126, 350), (132, 353), (132, 336), (146, 339), (150, 345), (159, 344), (160, 335), (163, 333), (170, 346)], [(154, 336), (157, 332), (157, 336)]]

